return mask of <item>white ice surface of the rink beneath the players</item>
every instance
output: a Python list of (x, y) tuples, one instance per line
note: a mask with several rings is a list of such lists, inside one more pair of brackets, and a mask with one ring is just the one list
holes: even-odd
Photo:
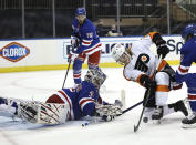
[[(177, 68), (174, 66), (176, 70)], [(121, 99), (125, 90), (125, 107), (143, 100), (144, 89), (123, 77), (123, 68), (102, 69), (106, 73), (106, 90), (101, 96), (113, 103)], [(85, 74), (86, 70), (83, 70)], [(190, 72), (196, 72), (192, 66)], [(45, 101), (63, 84), (65, 70), (38, 71), (0, 74), (0, 95), (35, 101)], [(65, 87), (73, 86), (72, 70), (69, 72)], [(168, 103), (186, 97), (186, 85), (169, 93)], [(134, 133), (142, 105), (116, 117), (112, 122), (90, 124), (82, 127), (83, 121), (71, 121), (63, 125), (44, 126), (0, 116), (0, 145), (196, 145), (196, 128), (180, 127), (182, 113), (174, 113), (163, 118), (162, 124), (141, 123)]]

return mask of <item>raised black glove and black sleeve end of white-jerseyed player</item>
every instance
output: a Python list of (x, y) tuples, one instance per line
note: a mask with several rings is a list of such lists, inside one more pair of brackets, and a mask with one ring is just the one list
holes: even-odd
[(167, 55), (167, 53), (169, 52), (169, 49), (166, 45), (166, 41), (162, 39), (159, 33), (156, 33), (153, 37), (153, 42), (157, 46), (158, 58), (162, 56), (162, 59), (164, 59)]

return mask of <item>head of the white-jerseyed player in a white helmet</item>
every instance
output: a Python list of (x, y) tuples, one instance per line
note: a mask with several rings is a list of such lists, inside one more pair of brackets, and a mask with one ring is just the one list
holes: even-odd
[(122, 44), (115, 44), (114, 48), (112, 49), (112, 56), (113, 59), (124, 65), (130, 63), (131, 55), (127, 53), (126, 49)]

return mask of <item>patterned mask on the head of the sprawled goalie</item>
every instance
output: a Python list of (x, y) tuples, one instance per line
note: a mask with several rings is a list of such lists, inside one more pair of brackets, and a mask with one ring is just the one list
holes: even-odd
[(94, 84), (94, 86), (96, 86), (97, 89), (100, 89), (100, 86), (104, 83), (106, 75), (101, 70), (97, 69), (89, 70), (84, 76), (84, 81)]

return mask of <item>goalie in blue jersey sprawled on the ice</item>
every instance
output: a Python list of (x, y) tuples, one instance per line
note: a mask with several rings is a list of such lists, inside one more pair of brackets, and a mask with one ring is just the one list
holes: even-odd
[(109, 104), (100, 97), (99, 89), (105, 81), (99, 70), (89, 70), (82, 87), (62, 89), (45, 103), (0, 97), (0, 115), (17, 116), (30, 123), (61, 124), (68, 120), (97, 116), (111, 121), (122, 113), (121, 102)]

